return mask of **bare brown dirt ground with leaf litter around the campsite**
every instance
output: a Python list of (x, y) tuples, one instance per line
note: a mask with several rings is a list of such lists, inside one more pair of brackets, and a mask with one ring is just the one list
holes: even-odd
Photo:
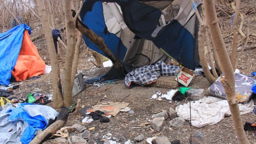
[[(245, 22), (243, 31), (245, 35), (247, 35), (247, 27), (249, 29), (249, 33), (256, 34), (256, 6), (255, 0), (242, 0), (241, 5), (241, 13), (245, 16)], [(248, 12), (249, 11), (249, 12)], [(247, 14), (245, 14), (247, 13)], [(226, 44), (227, 51), (231, 54), (232, 49), (232, 28), (229, 23), (231, 21), (231, 17), (224, 16), (219, 17), (219, 22), (221, 25), (222, 35), (224, 37), (224, 41)], [(245, 44), (245, 39), (242, 38), (240, 34), (239, 36), (239, 49), (242, 48)], [(49, 54), (44, 40), (37, 40), (34, 42), (35, 45), (39, 48), (39, 53), (42, 58), (46, 61), (49, 60)], [(256, 71), (255, 61), (256, 61), (256, 40), (255, 37), (250, 36), (248, 39), (247, 49), (241, 55), (237, 69), (240, 70), (242, 74), (250, 74), (253, 71)], [(64, 53), (64, 50), (62, 50)], [(96, 68), (90, 60), (94, 61), (93, 57), (90, 54), (90, 50), (84, 46), (80, 50), (80, 58), (78, 64), (78, 72), (84, 74), (84, 76), (88, 76), (88, 78), (96, 77), (100, 74), (106, 73), (109, 68)], [(63, 57), (63, 55), (61, 55)], [(63, 65), (60, 66), (61, 79), (63, 76)], [(19, 98), (25, 98), (29, 92), (32, 92), (34, 88), (39, 88), (42, 91), (42, 94), (52, 94), (52, 74), (43, 74), (41, 78), (38, 80), (26, 80), (18, 83), (20, 88), (14, 90), (14, 95)], [(207, 88), (210, 86), (210, 83), (206, 80), (204, 76), (197, 76), (192, 81), (189, 87), (194, 88), (202, 88), (207, 91)], [(94, 92), (103, 90), (107, 87), (111, 87), (110, 89), (103, 91), (101, 93), (92, 94)], [(154, 136), (167, 136), (169, 140), (181, 140), (182, 144), (188, 143), (188, 137), (190, 136), (190, 125), (189, 122), (186, 121), (186, 125), (181, 128), (175, 129), (169, 126), (170, 119), (165, 120), (164, 126), (165, 129), (160, 132), (152, 132), (150, 127), (148, 128), (133, 128), (139, 126), (141, 123), (147, 122), (149, 119), (152, 119), (152, 115), (161, 112), (161, 110), (169, 110), (170, 107), (174, 109), (180, 105), (184, 104), (185, 99), (183, 99), (179, 104), (175, 102), (169, 103), (168, 100), (151, 100), (151, 96), (155, 94), (155, 92), (166, 93), (169, 89), (158, 88), (158, 87), (134, 87), (132, 89), (127, 89), (123, 80), (118, 81), (117, 84), (104, 84), (100, 85), (100, 87), (96, 86), (86, 86), (86, 88), (79, 94), (77, 94), (73, 101), (76, 102), (77, 99), (81, 99), (81, 105), (85, 106), (94, 106), (98, 102), (104, 99), (108, 99), (110, 101), (119, 101), (119, 102), (127, 102), (129, 103), (128, 107), (130, 107), (135, 113), (125, 113), (119, 112), (115, 117), (110, 118), (109, 123), (100, 123), (98, 120), (93, 121), (89, 124), (85, 124), (84, 126), (87, 130), (91, 127), (95, 127), (94, 130), (90, 131), (92, 136), (89, 138), (88, 143), (103, 143), (100, 140), (102, 136), (111, 133), (119, 142), (123, 144), (128, 139), (134, 141), (134, 138), (139, 134), (144, 134), (146, 138), (154, 137)], [(104, 97), (104, 96), (107, 97)], [(207, 93), (205, 93), (208, 96)], [(256, 104), (256, 99), (254, 99), (254, 103)], [(52, 102), (47, 104), (48, 106), (52, 105)], [(57, 110), (59, 111), (59, 110)], [(254, 122), (256, 121), (256, 114), (247, 113), (241, 116), (242, 123)], [(75, 117), (74, 113), (69, 113), (68, 119), (65, 123), (65, 126), (72, 126), (73, 124), (81, 124), (81, 120), (84, 116), (79, 115), (79, 117)], [(100, 132), (99, 132), (100, 131)], [(103, 131), (103, 132), (102, 132)], [(72, 132), (71, 135), (80, 136), (82, 133)], [(236, 138), (236, 134), (234, 131), (232, 118), (231, 116), (225, 117), (222, 121), (217, 124), (211, 126), (204, 126), (202, 128), (192, 127), (192, 134), (202, 134), (203, 138), (207, 143), (213, 144), (235, 144), (239, 143)], [(246, 133), (247, 138), (253, 144), (256, 144), (256, 132), (250, 131)], [(52, 143), (53, 139), (47, 140), (45, 143)], [(117, 143), (119, 143), (117, 142)], [(146, 139), (141, 143), (146, 144)]]

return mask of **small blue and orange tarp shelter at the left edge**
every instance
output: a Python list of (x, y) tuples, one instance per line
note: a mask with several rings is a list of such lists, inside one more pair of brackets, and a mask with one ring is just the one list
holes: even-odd
[(38, 76), (45, 63), (30, 40), (31, 28), (26, 24), (0, 33), (0, 84), (10, 84), (11, 75), (16, 81)]

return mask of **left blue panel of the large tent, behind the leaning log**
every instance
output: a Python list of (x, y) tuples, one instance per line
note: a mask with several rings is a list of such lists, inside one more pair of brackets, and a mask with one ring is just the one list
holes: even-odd
[[(98, 36), (104, 39), (106, 46), (114, 53), (114, 55), (118, 59), (123, 60), (127, 48), (123, 45), (123, 42), (119, 37), (107, 31), (104, 21), (102, 2), (95, 2), (94, 0), (89, 0), (86, 2), (87, 3), (84, 4), (82, 7), (83, 11), (81, 11), (80, 13), (81, 21), (89, 29), (92, 29)], [(90, 5), (90, 2), (92, 2), (91, 4), (94, 4), (93, 7), (88, 7), (88, 5)], [(101, 51), (93, 42), (88, 40), (85, 36), (83, 36), (83, 39), (90, 49), (97, 51), (107, 57), (107, 55), (103, 51)]]

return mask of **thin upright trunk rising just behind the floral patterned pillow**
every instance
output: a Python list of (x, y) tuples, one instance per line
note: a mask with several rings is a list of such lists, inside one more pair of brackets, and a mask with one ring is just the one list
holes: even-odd
[(231, 64), (233, 67), (233, 70), (236, 69), (236, 52), (237, 52), (237, 44), (238, 44), (238, 19), (239, 19), (239, 13), (240, 13), (240, 5), (241, 0), (236, 0), (236, 12), (233, 20), (233, 48), (232, 48), (232, 54), (231, 54)]

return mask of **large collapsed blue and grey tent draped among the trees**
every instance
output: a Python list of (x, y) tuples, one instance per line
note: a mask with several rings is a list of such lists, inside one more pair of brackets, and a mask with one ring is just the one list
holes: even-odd
[[(172, 5), (180, 8), (178, 14), (168, 24), (160, 25), (162, 11)], [(200, 5), (201, 0), (194, 6), (190, 0), (86, 0), (80, 17), (118, 59), (133, 68), (172, 58), (194, 70), (199, 64), (199, 23), (194, 8)], [(89, 48), (106, 56), (83, 38)]]

